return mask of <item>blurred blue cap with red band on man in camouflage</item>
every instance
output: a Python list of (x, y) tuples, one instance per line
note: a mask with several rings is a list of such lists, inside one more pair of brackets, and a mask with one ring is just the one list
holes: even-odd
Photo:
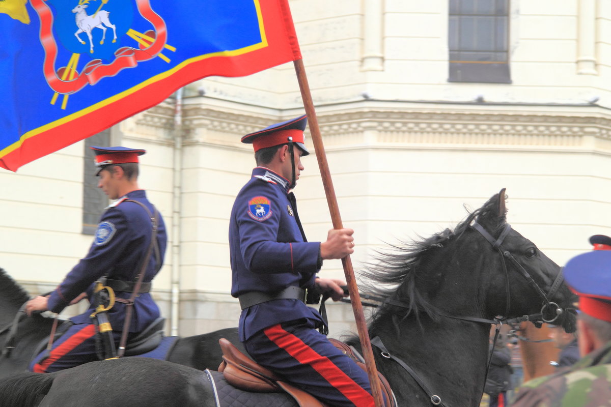
[(579, 310), (611, 322), (611, 250), (575, 256), (563, 268), (566, 283), (579, 295)]

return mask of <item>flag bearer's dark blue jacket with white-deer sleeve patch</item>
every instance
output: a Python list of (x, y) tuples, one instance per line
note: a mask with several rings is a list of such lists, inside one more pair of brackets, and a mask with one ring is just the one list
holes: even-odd
[[(320, 242), (306, 242), (288, 188), (287, 179), (257, 167), (238, 193), (229, 225), (233, 297), (251, 291), (275, 294), (288, 286), (314, 286)], [(322, 322), (315, 309), (299, 300), (251, 306), (240, 315), (240, 340), (268, 326), (302, 318)]]

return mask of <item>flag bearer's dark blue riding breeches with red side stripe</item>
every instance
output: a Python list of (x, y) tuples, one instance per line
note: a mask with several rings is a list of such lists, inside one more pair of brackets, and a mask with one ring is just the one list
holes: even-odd
[(269, 326), (247, 339), (244, 347), (258, 364), (326, 405), (375, 405), (367, 373), (316, 331), (312, 321)]

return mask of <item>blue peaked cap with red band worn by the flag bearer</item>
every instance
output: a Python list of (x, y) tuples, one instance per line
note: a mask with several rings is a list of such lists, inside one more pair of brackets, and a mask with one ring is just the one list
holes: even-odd
[[(242, 137), (242, 142), (252, 144), (255, 153), (257, 153), (262, 148), (287, 144), (289, 141), (292, 141), (303, 151), (302, 156), (307, 156), (310, 152), (305, 148), (304, 130), (306, 124), (307, 116), (299, 116), (247, 134)], [(289, 140), (289, 137), (292, 137), (292, 140)]]

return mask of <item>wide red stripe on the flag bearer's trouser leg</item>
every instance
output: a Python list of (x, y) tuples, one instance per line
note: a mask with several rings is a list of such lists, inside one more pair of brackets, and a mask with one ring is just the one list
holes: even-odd
[(299, 337), (288, 333), (280, 325), (274, 325), (263, 331), (265, 335), (277, 345), (287, 351), (299, 363), (308, 365), (316, 370), (335, 389), (344, 395), (355, 406), (373, 407), (373, 396), (359, 386), (350, 376), (342, 372), (326, 356), (321, 356), (305, 344)]

